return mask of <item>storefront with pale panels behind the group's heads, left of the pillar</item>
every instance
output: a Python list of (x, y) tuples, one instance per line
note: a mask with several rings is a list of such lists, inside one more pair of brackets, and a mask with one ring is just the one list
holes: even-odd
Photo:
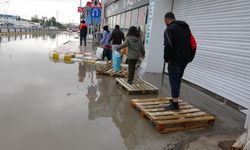
[(104, 24), (114, 29), (120, 25), (123, 31), (130, 26), (146, 28), (148, 0), (118, 0), (104, 2)]

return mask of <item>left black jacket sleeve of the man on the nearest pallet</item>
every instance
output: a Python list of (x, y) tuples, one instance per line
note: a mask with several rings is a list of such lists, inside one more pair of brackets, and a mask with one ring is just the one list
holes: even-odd
[(173, 52), (173, 33), (171, 29), (167, 28), (164, 33), (164, 59), (165, 62), (171, 61), (171, 54)]

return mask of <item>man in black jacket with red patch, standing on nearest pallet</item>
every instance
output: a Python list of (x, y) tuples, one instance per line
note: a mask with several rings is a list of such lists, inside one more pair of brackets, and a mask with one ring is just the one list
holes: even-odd
[(168, 63), (169, 83), (172, 100), (165, 110), (179, 110), (181, 80), (188, 63), (195, 56), (196, 41), (189, 25), (184, 21), (176, 21), (175, 15), (165, 15), (167, 29), (164, 32), (164, 59)]

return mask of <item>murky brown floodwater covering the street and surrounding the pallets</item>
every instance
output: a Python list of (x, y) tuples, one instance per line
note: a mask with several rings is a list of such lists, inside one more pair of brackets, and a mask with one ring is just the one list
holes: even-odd
[[(128, 96), (114, 79), (97, 77), (94, 65), (49, 60), (53, 48), (72, 38), (0, 38), (0, 150), (181, 150), (202, 137), (243, 132), (243, 114), (183, 84), (182, 98), (215, 115), (215, 126), (159, 134), (130, 105), (131, 98), (151, 96)], [(167, 77), (162, 86), (159, 74), (145, 79), (169, 96)]]

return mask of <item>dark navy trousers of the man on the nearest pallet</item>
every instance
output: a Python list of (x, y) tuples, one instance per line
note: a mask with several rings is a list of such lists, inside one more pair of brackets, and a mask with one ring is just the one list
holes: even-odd
[(168, 64), (168, 76), (171, 86), (172, 98), (180, 96), (181, 79), (183, 77), (187, 63), (170, 62)]

